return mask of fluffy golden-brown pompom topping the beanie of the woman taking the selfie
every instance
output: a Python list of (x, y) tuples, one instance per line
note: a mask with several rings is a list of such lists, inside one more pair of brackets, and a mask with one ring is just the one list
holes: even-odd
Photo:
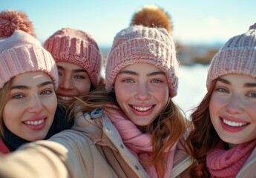
[(134, 13), (131, 26), (139, 24), (145, 27), (163, 27), (169, 34), (173, 31), (171, 16), (163, 8), (154, 4), (146, 4)]

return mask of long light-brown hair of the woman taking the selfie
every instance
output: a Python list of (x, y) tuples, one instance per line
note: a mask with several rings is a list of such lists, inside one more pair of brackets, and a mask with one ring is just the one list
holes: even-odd
[[(109, 115), (111, 115), (111, 112), (108, 112), (108, 109), (122, 112), (116, 102), (115, 93), (107, 93), (105, 91), (105, 85), (99, 85), (96, 90), (77, 98), (76, 102), (70, 108), (70, 114), (76, 114), (76, 112), (81, 111), (83, 113), (91, 112), (95, 108), (102, 108), (102, 110)], [(151, 159), (148, 162), (141, 162), (142, 165), (155, 165), (157, 173), (160, 177), (163, 177), (167, 162), (165, 152), (170, 151), (173, 145), (183, 136), (186, 131), (186, 125), (185, 114), (172, 102), (171, 98), (169, 98), (163, 113), (160, 113), (160, 115), (147, 126), (146, 131), (152, 135), (154, 151)], [(163, 139), (165, 139), (165, 142), (163, 142)]]

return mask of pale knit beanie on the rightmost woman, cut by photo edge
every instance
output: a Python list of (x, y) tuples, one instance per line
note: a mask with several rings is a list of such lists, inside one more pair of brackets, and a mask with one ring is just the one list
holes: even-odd
[(256, 23), (246, 33), (229, 39), (211, 60), (206, 81), (207, 90), (214, 79), (229, 73), (256, 78)]

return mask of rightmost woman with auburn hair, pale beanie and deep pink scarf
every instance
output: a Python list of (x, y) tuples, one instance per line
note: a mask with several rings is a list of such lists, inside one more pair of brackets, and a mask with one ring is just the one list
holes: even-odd
[(206, 87), (191, 113), (191, 177), (255, 177), (256, 23), (220, 48)]

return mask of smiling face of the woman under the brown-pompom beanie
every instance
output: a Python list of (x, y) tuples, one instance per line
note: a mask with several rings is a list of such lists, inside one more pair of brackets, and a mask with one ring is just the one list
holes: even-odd
[(114, 83), (116, 100), (137, 126), (150, 124), (168, 102), (168, 82), (162, 70), (149, 64), (124, 67)]

